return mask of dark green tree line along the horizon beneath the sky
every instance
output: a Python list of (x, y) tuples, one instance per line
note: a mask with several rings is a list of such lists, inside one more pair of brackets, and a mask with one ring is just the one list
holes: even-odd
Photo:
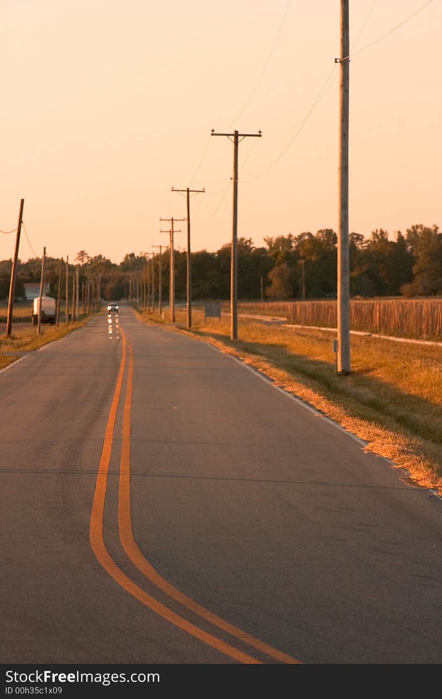
[[(266, 247), (256, 247), (251, 238), (239, 238), (238, 298), (289, 299), (336, 298), (337, 296), (337, 233), (321, 229), (293, 235), (268, 236)], [(353, 297), (371, 296), (442, 296), (442, 232), (439, 226), (415, 224), (406, 233), (376, 229), (369, 238), (351, 233), (350, 292)], [(216, 252), (199, 250), (191, 253), (192, 297), (194, 299), (230, 298), (230, 251), (226, 243)], [(170, 254), (161, 253), (161, 294), (169, 293)], [(114, 299), (133, 296), (136, 280), (151, 279), (154, 264), (156, 296), (159, 289), (159, 254), (127, 253), (115, 264), (99, 254), (90, 257), (80, 250), (69, 271), (78, 268), (82, 282), (99, 280), (101, 298)], [(0, 261), (0, 299), (9, 294), (12, 260)], [(50, 295), (56, 297), (61, 260), (45, 259), (45, 282)], [(19, 261), (15, 297), (24, 298), (24, 283), (40, 282), (41, 258)], [(138, 282), (137, 282), (138, 283)], [(65, 286), (61, 286), (64, 298)], [(175, 294), (186, 298), (186, 252), (175, 250)]]

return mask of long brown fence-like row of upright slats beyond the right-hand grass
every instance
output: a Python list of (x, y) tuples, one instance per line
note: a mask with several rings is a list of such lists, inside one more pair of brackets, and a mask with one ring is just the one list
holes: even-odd
[[(292, 325), (337, 327), (337, 301), (287, 303)], [(442, 299), (350, 301), (350, 329), (404, 338), (442, 340)]]

